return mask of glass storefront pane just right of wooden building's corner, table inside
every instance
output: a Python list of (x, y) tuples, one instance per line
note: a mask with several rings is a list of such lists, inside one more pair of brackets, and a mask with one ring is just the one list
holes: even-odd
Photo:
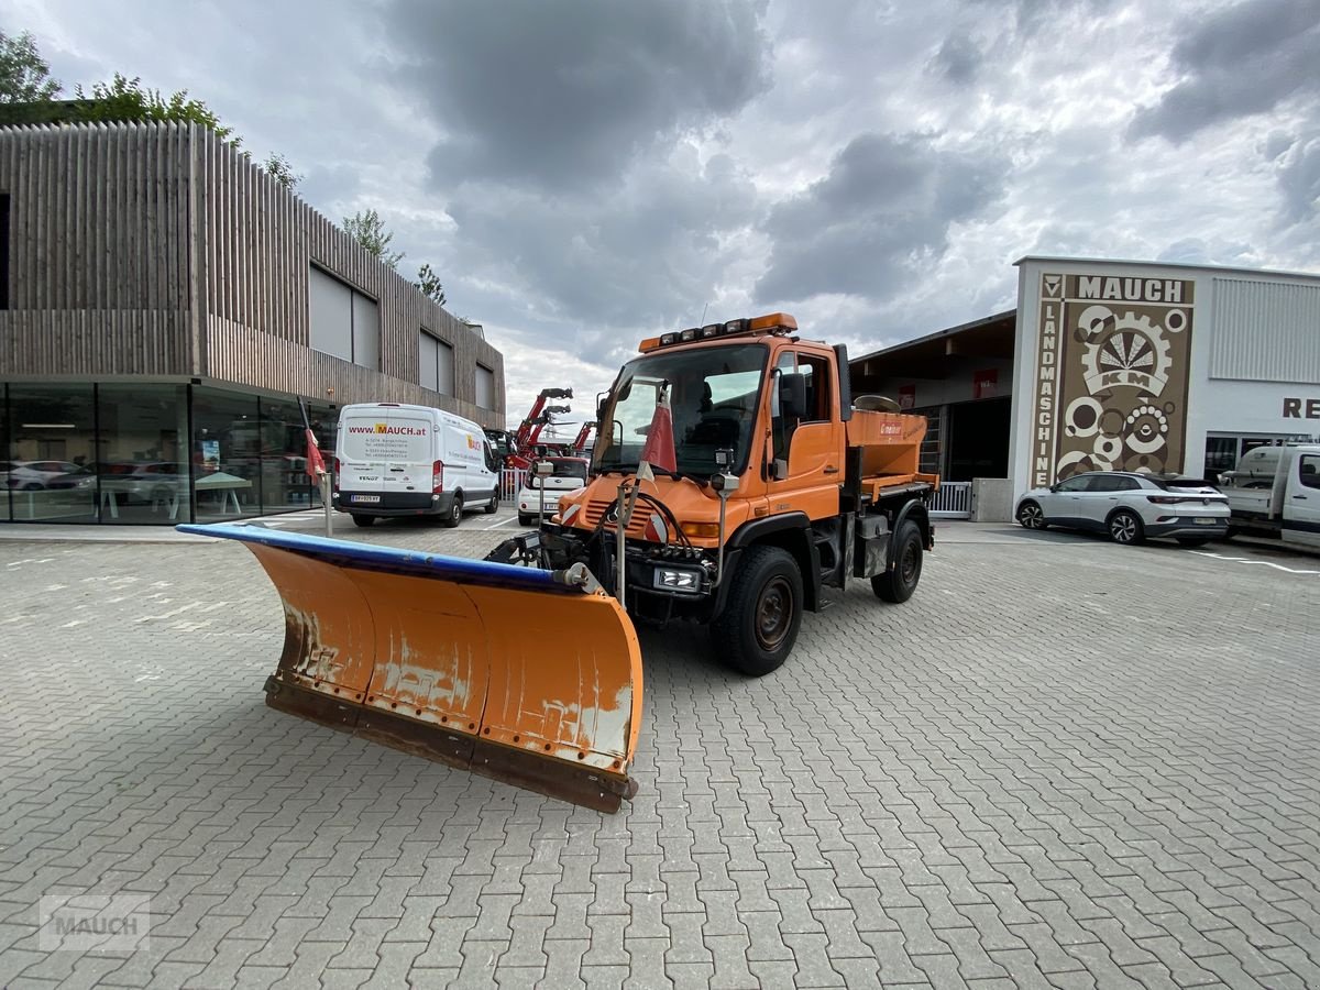
[(193, 519), (219, 523), (261, 512), (261, 416), (256, 396), (193, 389)]

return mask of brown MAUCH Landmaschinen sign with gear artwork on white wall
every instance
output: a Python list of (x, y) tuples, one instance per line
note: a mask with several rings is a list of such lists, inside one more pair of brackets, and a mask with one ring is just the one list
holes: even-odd
[(1196, 284), (1041, 275), (1031, 479), (1181, 470)]

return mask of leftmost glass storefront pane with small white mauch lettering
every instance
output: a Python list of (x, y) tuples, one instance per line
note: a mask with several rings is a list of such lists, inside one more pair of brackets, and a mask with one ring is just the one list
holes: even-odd
[(91, 469), (96, 459), (92, 387), (9, 385), (8, 425), (3, 474), (9, 517), (95, 523), (102, 504)]

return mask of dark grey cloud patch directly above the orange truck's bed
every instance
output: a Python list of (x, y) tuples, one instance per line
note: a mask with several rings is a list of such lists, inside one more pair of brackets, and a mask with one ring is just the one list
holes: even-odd
[(1001, 197), (1003, 172), (990, 154), (940, 150), (928, 136), (855, 137), (829, 176), (771, 211), (771, 256), (758, 298), (884, 298), (913, 265), (945, 253), (952, 223)]

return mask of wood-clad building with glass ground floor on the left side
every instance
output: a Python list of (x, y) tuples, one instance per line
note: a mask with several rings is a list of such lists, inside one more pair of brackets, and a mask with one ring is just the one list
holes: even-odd
[(504, 424), (479, 327), (182, 124), (0, 127), (0, 392), (9, 521), (306, 508), (300, 399)]

